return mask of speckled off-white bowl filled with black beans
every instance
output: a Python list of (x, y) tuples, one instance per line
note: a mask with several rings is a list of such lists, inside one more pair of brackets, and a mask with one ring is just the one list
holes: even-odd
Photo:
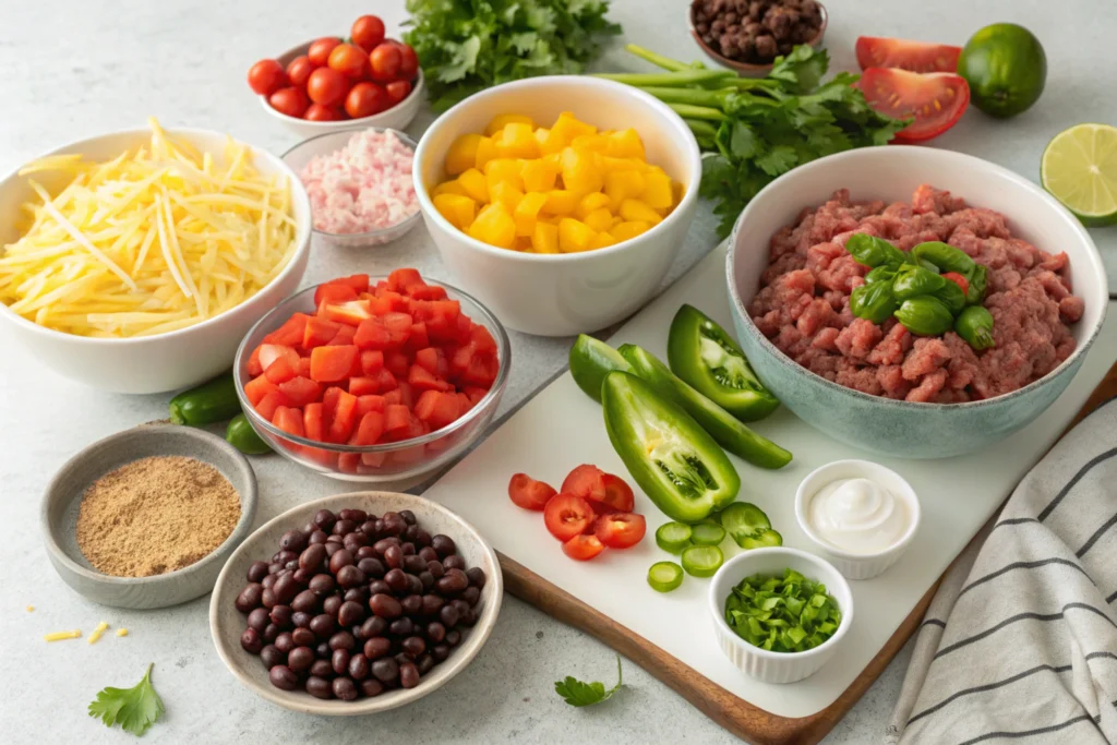
[(230, 556), (210, 632), (236, 678), (328, 716), (403, 706), (460, 672), (488, 639), (496, 553), (446, 507), (390, 491), (309, 502)]

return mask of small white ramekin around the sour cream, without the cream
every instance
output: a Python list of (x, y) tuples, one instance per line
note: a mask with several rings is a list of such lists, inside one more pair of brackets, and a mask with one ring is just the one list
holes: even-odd
[[(896, 499), (904, 504), (908, 518), (907, 529), (896, 543), (885, 551), (871, 554), (850, 553), (825, 541), (811, 528), (811, 522), (806, 518), (811, 499), (823, 486), (842, 478), (867, 478), (888, 489)], [(795, 491), (795, 519), (799, 520), (799, 527), (830, 560), (830, 563), (849, 580), (868, 580), (895, 564), (907, 551), (919, 529), (919, 499), (911, 485), (896, 471), (869, 460), (836, 460), (832, 464), (820, 466), (802, 480)]]

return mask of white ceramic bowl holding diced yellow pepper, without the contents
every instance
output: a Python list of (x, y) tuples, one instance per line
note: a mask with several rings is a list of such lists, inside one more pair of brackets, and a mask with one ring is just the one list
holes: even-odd
[[(439, 214), (430, 190), (458, 135), (481, 132), (497, 114), (526, 114), (541, 124), (564, 111), (603, 130), (636, 128), (648, 161), (684, 184), (680, 203), (631, 240), (582, 254), (540, 255), (475, 240)], [(416, 192), (435, 245), (461, 286), (516, 331), (569, 336), (628, 317), (659, 287), (694, 218), (701, 179), (698, 144), (666, 104), (633, 87), (584, 76), (551, 76), (498, 85), (440, 116), (416, 152)]]

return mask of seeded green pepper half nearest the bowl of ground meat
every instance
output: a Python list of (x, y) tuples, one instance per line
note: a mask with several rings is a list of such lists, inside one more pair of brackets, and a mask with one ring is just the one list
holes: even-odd
[(671, 321), (667, 361), (671, 372), (741, 421), (763, 419), (780, 405), (733, 337), (690, 305)]

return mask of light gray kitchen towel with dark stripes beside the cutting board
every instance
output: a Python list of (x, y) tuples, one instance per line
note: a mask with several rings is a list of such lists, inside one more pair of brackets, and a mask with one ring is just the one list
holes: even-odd
[(1115, 525), (1117, 399), (1032, 469), (947, 573), (886, 742), (1117, 744)]

